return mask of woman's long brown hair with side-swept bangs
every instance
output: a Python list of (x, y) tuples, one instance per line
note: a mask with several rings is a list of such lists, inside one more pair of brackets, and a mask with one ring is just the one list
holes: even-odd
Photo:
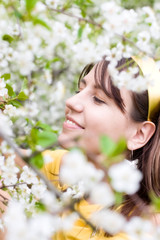
[[(106, 88), (106, 74), (109, 62), (102, 60), (95, 66), (95, 82), (100, 86), (105, 94), (112, 98), (116, 105), (125, 112), (125, 105), (121, 98), (120, 90), (117, 88), (110, 76), (108, 76), (108, 86)], [(135, 64), (129, 59), (121, 59), (118, 62), (119, 71), (127, 69), (128, 66)], [(87, 65), (80, 75), (80, 79), (88, 74), (95, 63)], [(138, 74), (136, 75), (138, 76)], [(136, 77), (135, 76), (135, 77)], [(130, 113), (135, 122), (143, 122), (148, 116), (148, 91), (141, 93), (131, 92), (133, 107)], [(126, 217), (141, 215), (144, 206), (147, 206), (150, 200), (150, 194), (160, 197), (160, 113), (157, 112), (152, 119), (156, 126), (156, 131), (145, 146), (133, 152), (132, 160), (138, 159), (137, 168), (142, 172), (143, 179), (140, 189), (134, 195), (126, 195), (121, 209), (121, 213)]]

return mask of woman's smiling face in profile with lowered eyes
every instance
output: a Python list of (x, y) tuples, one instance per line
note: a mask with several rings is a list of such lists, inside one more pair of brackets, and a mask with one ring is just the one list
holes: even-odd
[[(64, 148), (80, 146), (87, 152), (99, 153), (99, 138), (107, 135), (117, 141), (131, 136), (130, 119), (132, 101), (128, 90), (121, 89), (125, 113), (113, 99), (95, 85), (95, 67), (81, 80), (79, 92), (66, 101), (66, 120), (59, 143)], [(106, 86), (107, 86), (106, 77)]]

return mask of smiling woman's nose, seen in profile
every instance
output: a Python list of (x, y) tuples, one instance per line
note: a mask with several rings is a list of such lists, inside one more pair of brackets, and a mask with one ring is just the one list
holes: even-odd
[(84, 106), (82, 99), (79, 97), (80, 93), (75, 94), (74, 96), (66, 100), (66, 107), (75, 112), (83, 112)]

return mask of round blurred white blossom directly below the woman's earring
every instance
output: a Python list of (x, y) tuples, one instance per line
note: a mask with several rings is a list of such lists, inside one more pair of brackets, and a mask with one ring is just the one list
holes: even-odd
[(111, 177), (111, 184), (118, 192), (133, 194), (139, 189), (142, 173), (136, 169), (135, 165), (130, 165), (123, 161), (112, 165), (108, 174)]

